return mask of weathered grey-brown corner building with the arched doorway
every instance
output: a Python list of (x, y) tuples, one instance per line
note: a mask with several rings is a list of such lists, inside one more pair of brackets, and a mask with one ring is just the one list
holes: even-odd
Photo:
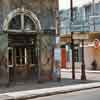
[(56, 0), (0, 1), (0, 82), (48, 80)]

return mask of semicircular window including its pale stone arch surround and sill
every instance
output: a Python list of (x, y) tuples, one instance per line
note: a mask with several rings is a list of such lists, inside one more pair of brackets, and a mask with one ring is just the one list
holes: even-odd
[(36, 15), (24, 8), (12, 11), (4, 21), (4, 31), (39, 31), (41, 25)]

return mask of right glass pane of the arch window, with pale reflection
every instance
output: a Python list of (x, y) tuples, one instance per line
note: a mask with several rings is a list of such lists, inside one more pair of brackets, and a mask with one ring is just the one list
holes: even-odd
[(24, 29), (27, 31), (36, 30), (34, 22), (28, 16), (24, 16)]

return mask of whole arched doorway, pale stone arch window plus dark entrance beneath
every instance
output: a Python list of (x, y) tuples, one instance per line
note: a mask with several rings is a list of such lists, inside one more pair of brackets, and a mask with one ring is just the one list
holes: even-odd
[(37, 35), (41, 30), (38, 18), (32, 12), (18, 8), (8, 15), (3, 28), (8, 33), (9, 80), (36, 78)]

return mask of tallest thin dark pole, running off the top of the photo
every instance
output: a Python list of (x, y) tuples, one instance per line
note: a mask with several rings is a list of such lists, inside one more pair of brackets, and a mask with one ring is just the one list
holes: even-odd
[[(73, 0), (70, 0), (70, 21), (73, 22)], [(74, 64), (74, 40), (73, 32), (71, 31), (71, 48), (72, 48), (72, 79), (75, 79), (75, 64)]]

